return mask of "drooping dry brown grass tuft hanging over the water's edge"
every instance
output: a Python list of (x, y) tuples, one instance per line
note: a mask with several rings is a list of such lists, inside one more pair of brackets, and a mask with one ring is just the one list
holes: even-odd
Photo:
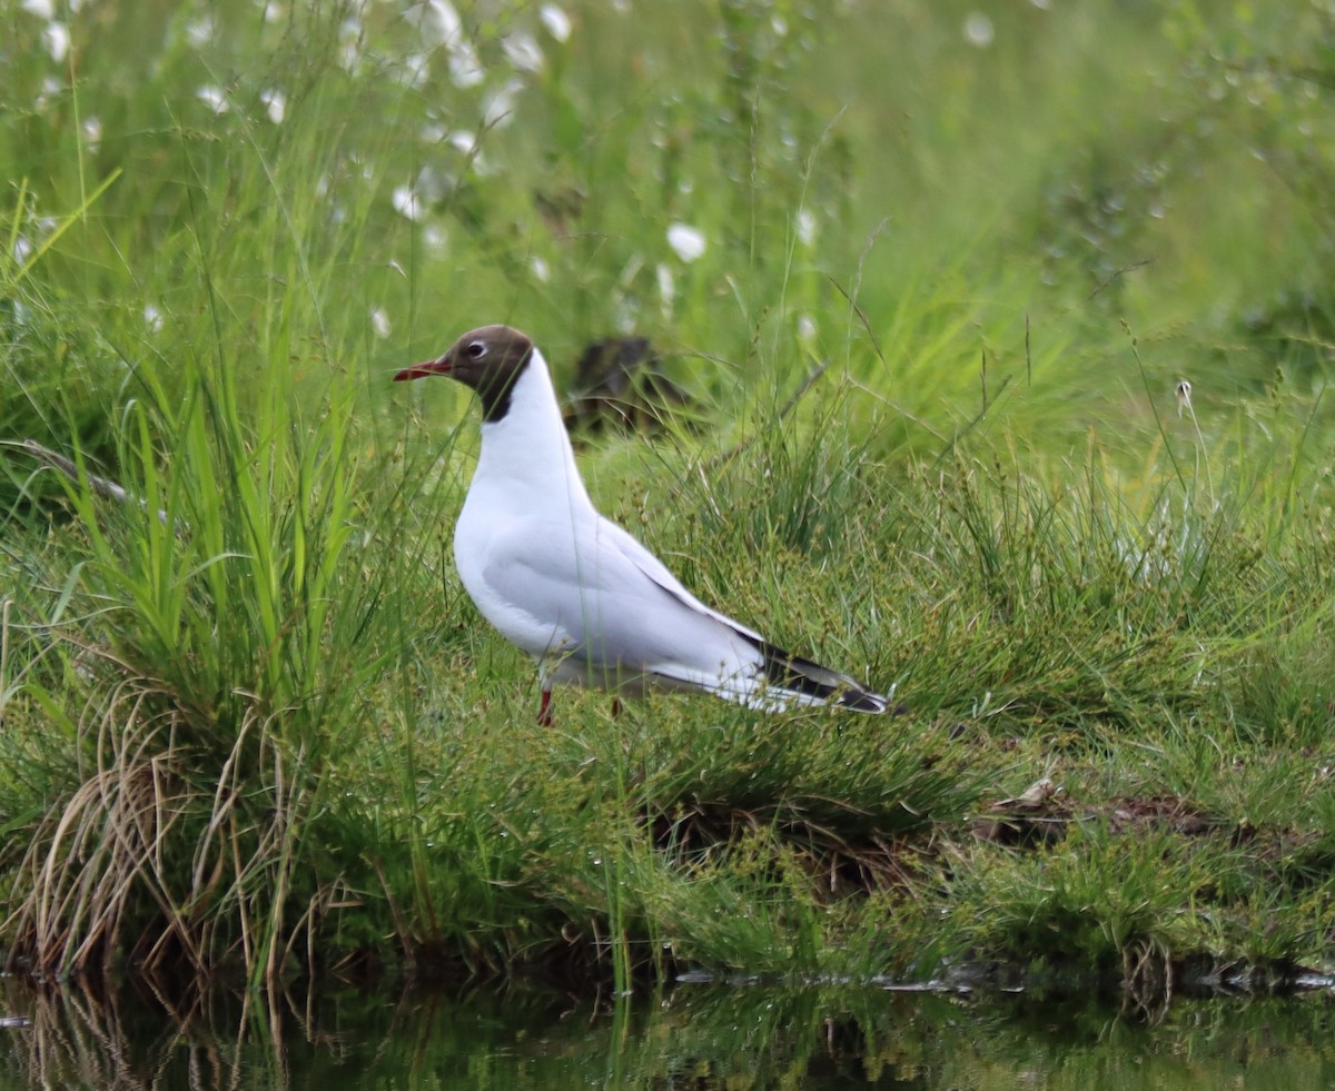
[(76, 662), (91, 683), (80, 778), (24, 856), (25, 894), (4, 926), (11, 967), (79, 974), (128, 956), (150, 972), (206, 972), (239, 954), (247, 975), (275, 976), (335, 896), (284, 920), (304, 802), (294, 758), (255, 704), (224, 759), (208, 760), (182, 742), (200, 739), (200, 714), (170, 687), (103, 648)]

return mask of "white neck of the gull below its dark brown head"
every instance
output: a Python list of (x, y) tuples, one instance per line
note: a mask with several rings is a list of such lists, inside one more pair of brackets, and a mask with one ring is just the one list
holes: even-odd
[(529, 493), (535, 505), (550, 505), (565, 496), (573, 507), (591, 507), (547, 361), (537, 348), (510, 389), (506, 415), (482, 424), (482, 449), (470, 495), (479, 484), (493, 481), (511, 497)]

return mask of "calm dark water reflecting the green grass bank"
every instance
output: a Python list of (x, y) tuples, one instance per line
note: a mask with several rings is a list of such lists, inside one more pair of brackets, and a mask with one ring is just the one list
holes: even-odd
[(1147, 1024), (1024, 996), (678, 986), (619, 1010), (523, 990), (212, 991), (0, 980), (0, 1091), (134, 1088), (1326, 1088), (1335, 996), (1192, 1000)]

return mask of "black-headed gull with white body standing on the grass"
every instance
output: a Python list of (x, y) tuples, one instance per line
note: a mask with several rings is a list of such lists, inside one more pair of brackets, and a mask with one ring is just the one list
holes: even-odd
[(622, 694), (704, 690), (750, 708), (885, 698), (710, 610), (594, 508), (575, 465), (547, 361), (507, 325), (483, 325), (395, 381), (449, 375), (482, 403), (482, 449), (454, 527), (454, 563), (478, 610), (531, 655), (539, 723), (554, 683)]

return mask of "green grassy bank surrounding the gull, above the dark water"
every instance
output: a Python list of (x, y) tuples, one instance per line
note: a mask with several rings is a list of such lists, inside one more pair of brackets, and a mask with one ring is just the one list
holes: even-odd
[[(1335, 27), (918, 8), (0, 8), (15, 966), (1330, 963)], [(904, 715), (537, 727), (390, 383), (493, 320), (650, 337), (603, 509)]]

